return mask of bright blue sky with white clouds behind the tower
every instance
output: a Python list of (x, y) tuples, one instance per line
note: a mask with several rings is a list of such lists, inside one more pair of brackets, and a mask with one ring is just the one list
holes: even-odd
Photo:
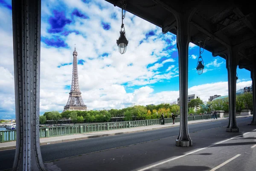
[[(135, 104), (177, 101), (179, 69), (176, 35), (126, 13), (127, 51), (116, 39), (121, 9), (104, 0), (42, 0), (40, 112), (61, 112), (70, 92), (74, 46), (79, 85), (88, 109), (121, 109)], [(0, 119), (15, 118), (11, 0), (0, 0)], [(199, 47), (189, 44), (189, 94), (204, 101), (227, 95), (225, 60), (202, 54), (204, 73), (195, 70)], [(237, 89), (251, 85), (250, 72), (237, 70)]]

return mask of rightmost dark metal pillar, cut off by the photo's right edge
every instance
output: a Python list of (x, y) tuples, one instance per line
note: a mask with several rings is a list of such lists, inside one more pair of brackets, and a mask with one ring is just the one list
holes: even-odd
[(250, 125), (256, 125), (256, 69), (251, 68), (252, 88), (253, 88), (253, 120)]

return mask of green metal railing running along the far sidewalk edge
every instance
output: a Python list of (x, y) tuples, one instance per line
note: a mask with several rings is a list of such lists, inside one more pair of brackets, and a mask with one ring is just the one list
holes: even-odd
[[(212, 115), (188, 116), (188, 121), (195, 121), (201, 119), (210, 119)], [(220, 117), (218, 114), (217, 117)], [(176, 117), (175, 122), (180, 122), (180, 117)], [(165, 118), (165, 123), (172, 123), (172, 118)], [(161, 119), (148, 119), (138, 121), (125, 121), (125, 122), (107, 122), (107, 123), (94, 123), (83, 125), (70, 125), (58, 127), (45, 127), (39, 128), (40, 138), (52, 136), (65, 136), (79, 133), (90, 133), (105, 130), (117, 130), (124, 128), (135, 128), (149, 125), (159, 125)], [(8, 142), (16, 140), (16, 130), (0, 131), (0, 142)]]

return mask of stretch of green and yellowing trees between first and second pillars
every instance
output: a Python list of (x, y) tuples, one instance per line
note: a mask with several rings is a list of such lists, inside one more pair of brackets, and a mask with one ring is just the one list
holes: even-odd
[(164, 113), (164, 116), (170, 117), (172, 113), (178, 114), (180, 107), (170, 104), (158, 104), (141, 106), (135, 105), (126, 107), (123, 109), (111, 109), (111, 110), (66, 110), (62, 113), (58, 111), (45, 112), (43, 116), (39, 117), (39, 123), (45, 124), (47, 120), (58, 123), (61, 119), (71, 119), (73, 123), (93, 123), (93, 122), (109, 122), (112, 117), (124, 117), (125, 121), (131, 120), (144, 120), (144, 119), (159, 119), (160, 115)]

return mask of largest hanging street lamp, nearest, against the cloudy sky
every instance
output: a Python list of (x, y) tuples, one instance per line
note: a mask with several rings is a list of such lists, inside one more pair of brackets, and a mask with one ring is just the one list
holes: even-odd
[(116, 40), (116, 44), (118, 46), (119, 52), (121, 54), (124, 54), (126, 52), (126, 47), (128, 45), (128, 40), (125, 37), (125, 26), (123, 24), (123, 20), (125, 18), (126, 0), (121, 0), (121, 3), (122, 3), (122, 25), (120, 30), (120, 37), (118, 40)]

